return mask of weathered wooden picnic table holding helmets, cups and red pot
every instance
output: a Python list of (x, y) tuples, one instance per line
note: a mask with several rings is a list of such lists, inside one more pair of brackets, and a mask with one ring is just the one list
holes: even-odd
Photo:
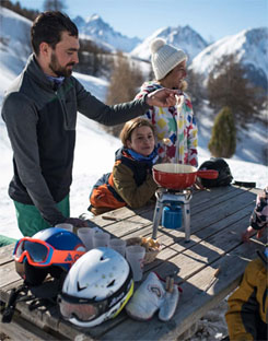
[[(267, 239), (252, 238), (243, 244), (241, 234), (248, 226), (258, 189), (228, 186), (195, 191), (190, 201), (190, 242), (185, 243), (184, 230), (159, 227), (158, 238), (162, 250), (158, 258), (147, 264), (143, 279), (150, 271), (162, 278), (174, 275), (183, 290), (175, 316), (162, 322), (155, 316), (147, 322), (130, 319), (123, 310), (115, 319), (94, 328), (78, 328), (65, 321), (58, 306), (39, 307), (30, 311), (28, 302), (19, 302), (11, 324), (1, 324), (1, 330), (13, 339), (32, 340), (183, 340), (209, 309), (219, 304), (238, 284), (244, 269), (256, 250)], [(91, 220), (123, 239), (152, 235), (154, 204), (140, 210), (128, 208), (106, 213)], [(14, 270), (12, 250), (14, 245), (0, 249), (0, 294), (7, 302), (12, 287), (22, 283)], [(218, 278), (211, 285), (214, 272)], [(28, 330), (28, 331), (26, 331)], [(189, 336), (189, 333), (188, 333)]]

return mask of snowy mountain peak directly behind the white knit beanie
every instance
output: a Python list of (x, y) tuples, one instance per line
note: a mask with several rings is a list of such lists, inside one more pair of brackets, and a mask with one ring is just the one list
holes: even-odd
[(189, 61), (208, 46), (208, 43), (188, 25), (184, 27), (164, 27), (155, 31), (151, 36), (144, 39), (130, 55), (149, 60), (150, 44), (156, 37), (164, 38), (168, 44), (182, 48), (188, 55)]

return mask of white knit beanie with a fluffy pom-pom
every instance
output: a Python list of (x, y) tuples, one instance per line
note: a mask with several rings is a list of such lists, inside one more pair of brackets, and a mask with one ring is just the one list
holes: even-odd
[(150, 49), (152, 68), (156, 81), (162, 80), (177, 64), (187, 60), (187, 56), (182, 49), (167, 45), (162, 38), (152, 40)]

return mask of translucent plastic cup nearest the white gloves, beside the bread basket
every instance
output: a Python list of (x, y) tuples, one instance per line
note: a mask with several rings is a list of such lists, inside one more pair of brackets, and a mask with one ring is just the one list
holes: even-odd
[(131, 245), (126, 247), (126, 258), (131, 267), (135, 282), (142, 280), (144, 256), (145, 248), (143, 246)]

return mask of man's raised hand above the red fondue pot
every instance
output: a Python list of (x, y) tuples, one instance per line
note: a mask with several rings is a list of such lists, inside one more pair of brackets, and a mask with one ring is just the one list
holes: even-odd
[(147, 95), (147, 104), (150, 106), (168, 107), (176, 105), (177, 90), (159, 89)]

